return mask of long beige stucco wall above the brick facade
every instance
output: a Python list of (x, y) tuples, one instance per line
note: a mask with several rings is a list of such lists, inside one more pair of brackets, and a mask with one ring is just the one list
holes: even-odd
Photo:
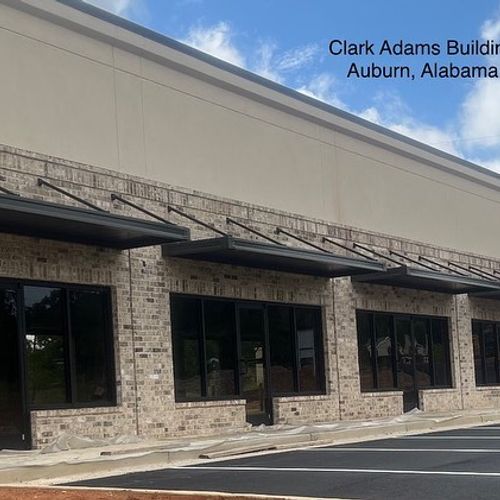
[(0, 0), (0, 67), (2, 144), (500, 257), (497, 179), (54, 0)]

